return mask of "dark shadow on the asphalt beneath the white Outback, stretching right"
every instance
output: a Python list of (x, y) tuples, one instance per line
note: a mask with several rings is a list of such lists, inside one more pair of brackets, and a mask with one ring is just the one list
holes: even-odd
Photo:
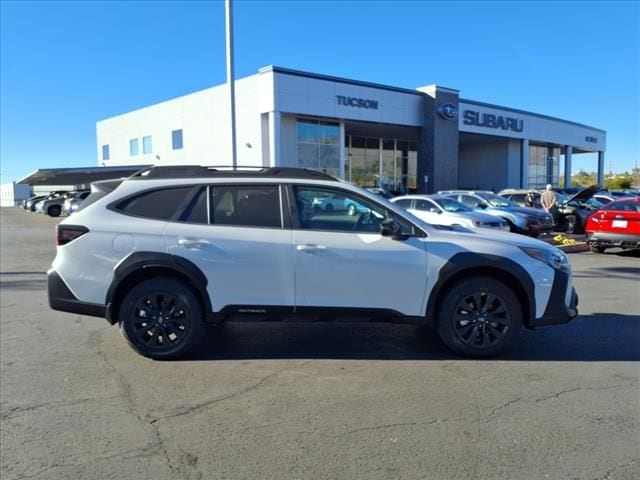
[[(640, 316), (597, 313), (566, 325), (523, 329), (499, 361), (640, 361)], [(185, 360), (464, 360), (431, 329), (393, 323), (228, 322), (212, 327)]]

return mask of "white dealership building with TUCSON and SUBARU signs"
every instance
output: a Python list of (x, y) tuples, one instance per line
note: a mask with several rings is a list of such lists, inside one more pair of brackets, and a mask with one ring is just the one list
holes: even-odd
[[(573, 155), (594, 152), (604, 175), (605, 131), (452, 88), (275, 66), (235, 85), (239, 166), (318, 169), (398, 193), (558, 185)], [(230, 166), (229, 111), (223, 84), (99, 121), (98, 164)]]

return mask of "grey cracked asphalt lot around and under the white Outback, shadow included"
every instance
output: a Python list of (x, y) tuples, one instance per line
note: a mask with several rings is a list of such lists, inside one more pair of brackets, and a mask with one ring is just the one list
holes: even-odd
[(49, 310), (50, 218), (1, 209), (3, 480), (640, 478), (640, 258), (571, 256), (572, 324), (491, 361), (426, 329), (234, 324), (181, 362)]

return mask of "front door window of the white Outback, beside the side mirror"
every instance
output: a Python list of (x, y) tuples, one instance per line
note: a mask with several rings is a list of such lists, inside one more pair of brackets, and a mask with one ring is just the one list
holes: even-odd
[(300, 227), (344, 232), (380, 231), (387, 210), (349, 192), (294, 187)]

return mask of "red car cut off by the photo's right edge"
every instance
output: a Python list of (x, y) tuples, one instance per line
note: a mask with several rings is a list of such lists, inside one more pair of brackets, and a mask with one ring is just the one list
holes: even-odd
[(621, 198), (591, 215), (585, 228), (592, 252), (640, 248), (640, 197)]

